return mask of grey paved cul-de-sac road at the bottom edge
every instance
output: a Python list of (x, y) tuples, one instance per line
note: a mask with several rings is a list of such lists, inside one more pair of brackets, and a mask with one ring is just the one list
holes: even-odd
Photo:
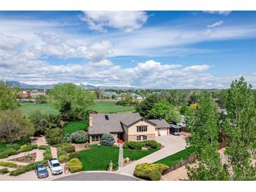
[(139, 179), (109, 172), (83, 172), (55, 179), (54, 181), (139, 181)]

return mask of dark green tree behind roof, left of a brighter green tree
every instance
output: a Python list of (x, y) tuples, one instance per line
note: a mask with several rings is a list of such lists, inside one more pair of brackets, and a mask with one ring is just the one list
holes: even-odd
[(135, 106), (135, 111), (140, 113), (140, 116), (147, 117), (149, 111), (153, 108), (156, 102), (159, 102), (161, 97), (159, 95), (149, 95), (141, 103)]

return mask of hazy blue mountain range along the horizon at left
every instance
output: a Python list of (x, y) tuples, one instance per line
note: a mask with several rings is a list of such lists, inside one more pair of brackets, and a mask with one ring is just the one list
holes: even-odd
[[(19, 88), (25, 88), (25, 89), (51, 89), (55, 85), (61, 84), (50, 84), (50, 85), (29, 85), (26, 83), (20, 83), (18, 81), (6, 81), (8, 85), (11, 87), (19, 87)], [(102, 88), (102, 89), (135, 89), (133, 87), (119, 87), (119, 86), (94, 86), (94, 85), (79, 85), (81, 88), (90, 88), (90, 89), (96, 89), (96, 88)]]

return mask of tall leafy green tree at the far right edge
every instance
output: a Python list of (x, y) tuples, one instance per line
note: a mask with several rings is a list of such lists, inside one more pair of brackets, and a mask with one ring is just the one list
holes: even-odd
[(255, 180), (256, 105), (252, 85), (245, 79), (233, 81), (225, 95), (227, 118), (222, 126), (227, 136), (225, 153), (234, 174), (232, 180)]

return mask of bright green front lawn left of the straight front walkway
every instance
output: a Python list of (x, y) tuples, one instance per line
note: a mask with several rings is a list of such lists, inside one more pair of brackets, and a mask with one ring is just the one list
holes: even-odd
[(79, 151), (83, 170), (108, 170), (110, 160), (113, 168), (118, 168), (119, 147), (117, 146), (90, 146), (90, 149)]

